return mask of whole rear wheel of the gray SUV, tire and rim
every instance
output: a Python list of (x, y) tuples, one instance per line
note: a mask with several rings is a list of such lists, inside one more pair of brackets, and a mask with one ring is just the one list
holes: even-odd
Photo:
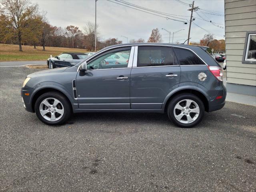
[(204, 116), (204, 104), (193, 94), (180, 94), (171, 100), (167, 112), (175, 125), (191, 128), (201, 122)]

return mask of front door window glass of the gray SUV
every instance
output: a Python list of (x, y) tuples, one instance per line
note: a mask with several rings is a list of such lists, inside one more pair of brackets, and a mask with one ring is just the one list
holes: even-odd
[(87, 64), (87, 70), (126, 68), (128, 66), (129, 59), (116, 58), (116, 54), (128, 54), (129, 58), (130, 48), (110, 51), (97, 57)]

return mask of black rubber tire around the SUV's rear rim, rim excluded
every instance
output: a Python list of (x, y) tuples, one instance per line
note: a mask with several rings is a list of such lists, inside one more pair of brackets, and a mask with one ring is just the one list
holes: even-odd
[[(188, 123), (188, 124), (178, 121), (174, 116), (174, 108), (175, 108), (176, 104), (178, 104), (180, 101), (185, 100), (185, 99), (193, 100), (194, 102), (196, 102), (196, 104), (198, 104), (198, 107), (200, 109), (198, 118), (196, 120), (194, 120), (194, 122)], [(179, 94), (179, 95), (175, 96), (170, 101), (168, 108), (167, 108), (167, 113), (168, 113), (168, 117), (170, 118), (170, 120), (176, 126), (179, 126), (181, 128), (191, 128), (191, 127), (196, 126), (197, 124), (199, 124), (202, 121), (202, 118), (204, 116), (204, 104), (203, 104), (202, 100), (200, 100), (200, 98), (198, 98), (194, 94), (190, 94), (190, 93)]]

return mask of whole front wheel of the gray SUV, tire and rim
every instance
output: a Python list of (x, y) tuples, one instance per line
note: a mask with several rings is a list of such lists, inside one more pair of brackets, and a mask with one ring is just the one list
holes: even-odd
[(71, 106), (64, 95), (47, 92), (36, 100), (35, 112), (45, 124), (60, 125), (70, 118)]

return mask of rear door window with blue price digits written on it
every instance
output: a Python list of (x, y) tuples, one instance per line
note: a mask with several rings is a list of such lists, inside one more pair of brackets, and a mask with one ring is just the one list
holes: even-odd
[(178, 65), (172, 47), (139, 46), (137, 67)]

